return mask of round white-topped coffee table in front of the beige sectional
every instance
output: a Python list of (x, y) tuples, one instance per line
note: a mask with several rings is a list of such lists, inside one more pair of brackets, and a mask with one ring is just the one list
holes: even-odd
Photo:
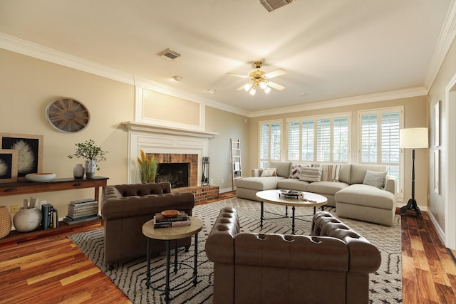
[[(291, 206), (291, 234), (294, 234), (294, 209), (295, 207), (314, 207), (314, 214), (316, 207), (323, 206), (328, 204), (328, 199), (325, 196), (320, 194), (315, 194), (311, 192), (302, 192), (304, 194), (304, 200), (301, 199), (297, 194), (296, 195), (284, 195), (281, 190), (264, 190), (257, 192), (257, 199), (261, 203), (261, 217), (260, 217), (260, 228), (263, 229), (263, 215), (264, 207), (263, 203), (276, 204), (281, 206)], [(285, 216), (288, 216), (285, 214)]]

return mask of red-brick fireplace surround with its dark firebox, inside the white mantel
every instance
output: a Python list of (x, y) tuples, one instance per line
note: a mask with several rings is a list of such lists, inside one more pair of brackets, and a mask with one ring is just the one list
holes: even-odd
[(146, 153), (155, 157), (158, 167), (157, 182), (170, 182), (172, 188), (198, 185), (198, 154)]

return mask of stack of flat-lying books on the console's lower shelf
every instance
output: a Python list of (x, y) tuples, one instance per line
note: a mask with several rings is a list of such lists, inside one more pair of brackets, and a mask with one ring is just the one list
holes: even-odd
[(98, 201), (94, 199), (80, 199), (71, 201), (68, 205), (68, 214), (63, 221), (68, 225), (100, 219), (98, 215)]

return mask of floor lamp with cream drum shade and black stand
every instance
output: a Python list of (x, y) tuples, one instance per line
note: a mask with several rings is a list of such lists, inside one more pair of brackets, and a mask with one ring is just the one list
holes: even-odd
[(412, 198), (408, 203), (400, 208), (400, 215), (404, 215), (408, 209), (414, 210), (418, 218), (421, 217), (421, 211), (415, 200), (415, 149), (427, 148), (427, 128), (413, 127), (399, 130), (399, 147), (401, 149), (412, 149)]

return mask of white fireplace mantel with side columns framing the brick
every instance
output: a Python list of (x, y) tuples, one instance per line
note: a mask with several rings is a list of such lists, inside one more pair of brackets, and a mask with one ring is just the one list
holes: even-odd
[(128, 130), (128, 183), (140, 182), (137, 157), (140, 150), (157, 154), (197, 154), (197, 180), (202, 177), (202, 157), (208, 155), (208, 140), (218, 133), (185, 130), (142, 122), (122, 122)]

